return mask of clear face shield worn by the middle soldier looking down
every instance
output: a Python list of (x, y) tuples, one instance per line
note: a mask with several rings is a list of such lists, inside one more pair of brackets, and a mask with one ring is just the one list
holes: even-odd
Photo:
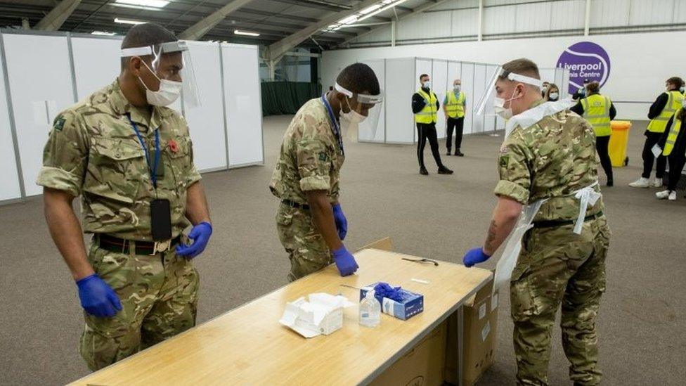
[(383, 91), (378, 95), (356, 94), (340, 84), (335, 90), (345, 96), (342, 101), (341, 134), (349, 141), (375, 141), (383, 103)]

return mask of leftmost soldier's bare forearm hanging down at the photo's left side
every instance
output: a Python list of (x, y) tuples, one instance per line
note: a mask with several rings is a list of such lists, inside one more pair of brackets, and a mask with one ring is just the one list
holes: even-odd
[(72, 207), (74, 198), (69, 193), (45, 188), (43, 192), (45, 219), (50, 235), (67, 263), (74, 280), (93, 274), (88, 262), (83, 231)]

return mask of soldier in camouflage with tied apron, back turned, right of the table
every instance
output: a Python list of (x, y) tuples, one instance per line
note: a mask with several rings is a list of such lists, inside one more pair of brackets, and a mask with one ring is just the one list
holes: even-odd
[[(498, 96), (517, 115), (543, 108), (540, 90), (507, 74), (540, 79), (526, 59), (503, 65)], [(532, 82), (536, 83), (536, 82)], [(542, 111), (542, 110), (541, 110)], [(562, 306), (562, 343), (575, 385), (597, 385), (598, 342), (595, 320), (605, 290), (605, 257), (610, 231), (602, 199), (588, 204), (579, 234), (576, 192), (597, 193), (597, 159), (593, 127), (576, 113), (559, 110), (527, 127), (514, 125), (500, 148), (498, 206), (484, 247), (467, 252), (465, 265), (483, 262), (512, 230), (523, 205), (547, 199), (522, 240), (510, 279), (517, 385), (548, 385), (550, 331)], [(584, 189), (585, 188), (585, 189)], [(594, 193), (594, 194), (595, 194)]]

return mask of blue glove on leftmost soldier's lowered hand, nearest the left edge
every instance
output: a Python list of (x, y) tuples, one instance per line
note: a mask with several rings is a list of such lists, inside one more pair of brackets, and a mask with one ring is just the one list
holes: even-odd
[(122, 303), (112, 288), (98, 274), (81, 278), (76, 282), (79, 287), (81, 307), (98, 318), (111, 318), (121, 311)]

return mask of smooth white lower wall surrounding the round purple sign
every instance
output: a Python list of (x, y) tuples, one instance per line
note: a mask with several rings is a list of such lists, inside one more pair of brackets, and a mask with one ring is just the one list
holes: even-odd
[(514, 58), (526, 57), (538, 63), (540, 67), (555, 67), (562, 51), (578, 41), (593, 41), (607, 51), (611, 60), (610, 74), (602, 93), (610, 96), (615, 102), (618, 117), (621, 119), (647, 119), (649, 105), (661, 91), (664, 91), (665, 79), (675, 75), (686, 77), (684, 53), (682, 50), (673, 49), (679, 41), (686, 41), (686, 32), (652, 32), (324, 51), (322, 82), (324, 86), (333, 84), (337, 73), (345, 65), (373, 58), (419, 56), (479, 63), (504, 63)]

